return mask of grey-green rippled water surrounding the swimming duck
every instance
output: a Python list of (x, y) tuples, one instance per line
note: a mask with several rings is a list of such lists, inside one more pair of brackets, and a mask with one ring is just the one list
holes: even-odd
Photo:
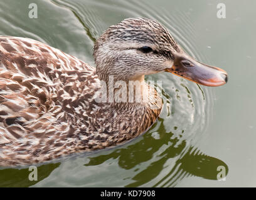
[[(30, 1), (0, 2), (0, 35), (30, 37), (93, 66), (93, 42), (127, 17), (149, 17), (166, 26), (183, 49), (220, 66), (228, 84), (206, 88), (172, 74), (163, 81), (164, 108), (143, 136), (114, 149), (80, 154), (28, 168), (1, 168), (0, 186), (256, 186), (255, 1), (221, 1), (227, 18), (216, 17), (220, 1)], [(218, 166), (226, 171), (217, 181)]]

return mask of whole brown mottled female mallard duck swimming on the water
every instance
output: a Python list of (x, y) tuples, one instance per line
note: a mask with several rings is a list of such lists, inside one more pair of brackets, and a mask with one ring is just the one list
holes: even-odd
[[(146, 18), (110, 26), (93, 56), (96, 69), (33, 39), (0, 36), (0, 166), (104, 149), (144, 133), (162, 106), (144, 75), (168, 71), (205, 86), (227, 82), (225, 71), (186, 55)], [(132, 81), (141, 89), (134, 98), (143, 101), (131, 101)], [(120, 93), (125, 84), (129, 92)]]

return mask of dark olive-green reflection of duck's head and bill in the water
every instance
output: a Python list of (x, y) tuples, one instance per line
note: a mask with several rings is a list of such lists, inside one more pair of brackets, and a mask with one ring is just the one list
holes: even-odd
[[(109, 159), (118, 159), (120, 168), (133, 169), (134, 176), (131, 178), (134, 182), (127, 184), (125, 187), (138, 187), (146, 186), (147, 183), (160, 176), (163, 171), (167, 171), (164, 168), (166, 162), (169, 159), (173, 159), (168, 169), (169, 173), (165, 176), (161, 176), (159, 181), (154, 184), (154, 187), (171, 187), (175, 186), (181, 179), (188, 176), (198, 176), (205, 179), (217, 180), (225, 178), (228, 173), (228, 166), (223, 161), (211, 156), (207, 156), (200, 152), (200, 150), (193, 146), (188, 146), (186, 140), (181, 141), (179, 136), (164, 131), (163, 119), (159, 119), (160, 127), (157, 128), (159, 138), (152, 137), (152, 133), (149, 131), (144, 134), (143, 139), (135, 144), (131, 144), (125, 148), (116, 149), (110, 154), (91, 157), (90, 161), (85, 166), (95, 166), (104, 163)], [(159, 123), (157, 123), (159, 124)], [(156, 125), (155, 125), (156, 126)], [(154, 128), (152, 128), (154, 129)], [(163, 149), (163, 146), (166, 149)], [(157, 151), (163, 151), (157, 154)], [(155, 160), (149, 164), (146, 168), (140, 170), (142, 163)], [(218, 166), (223, 167), (225, 175), (220, 174)]]

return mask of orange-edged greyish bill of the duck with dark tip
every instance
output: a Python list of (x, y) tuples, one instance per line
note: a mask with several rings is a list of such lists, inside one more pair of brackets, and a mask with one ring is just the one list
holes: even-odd
[(204, 86), (221, 86), (228, 81), (228, 74), (223, 69), (200, 63), (184, 53), (174, 56), (173, 66), (166, 69), (169, 73)]

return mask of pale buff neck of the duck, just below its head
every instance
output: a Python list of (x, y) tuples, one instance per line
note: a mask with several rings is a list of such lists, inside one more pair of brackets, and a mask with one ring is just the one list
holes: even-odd
[(116, 76), (107, 76), (100, 79), (105, 101), (115, 108), (128, 109), (152, 108), (162, 106), (161, 98), (153, 86), (144, 80), (144, 75), (131, 79), (119, 79)]

